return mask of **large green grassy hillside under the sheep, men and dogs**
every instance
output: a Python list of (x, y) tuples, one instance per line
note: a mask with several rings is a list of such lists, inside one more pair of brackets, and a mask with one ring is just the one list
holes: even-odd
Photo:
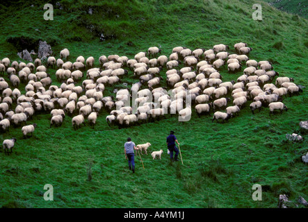
[[(261, 3), (263, 21), (252, 19), (252, 5)], [(0, 58), (20, 60), (16, 53), (35, 49), (38, 40), (52, 45), (59, 58), (63, 48), (70, 60), (102, 55), (133, 56), (149, 46), (159, 46), (169, 56), (175, 46), (211, 49), (248, 42), (250, 58), (270, 60), (279, 76), (295, 78), (307, 87), (307, 19), (279, 11), (263, 1), (60, 1), (53, 3), (54, 21), (44, 21), (46, 2), (2, 5)], [(33, 4), (33, 6), (31, 6)], [(89, 8), (93, 13), (90, 15)], [(100, 41), (103, 33), (106, 40)], [(23, 44), (26, 42), (27, 44)], [(181, 66), (182, 67), (182, 66)], [(60, 85), (49, 69), (53, 84)], [(223, 80), (236, 80), (241, 73)], [(132, 72), (123, 83), (136, 83)], [(161, 73), (165, 77), (165, 69)], [(8, 78), (5, 76), (6, 80)], [(83, 78), (84, 79), (84, 78)], [(81, 81), (77, 84), (81, 85)], [(161, 85), (165, 85), (165, 80)], [(24, 92), (24, 84), (19, 89)], [(117, 84), (107, 87), (113, 94)], [(115, 94), (113, 94), (115, 95)], [(251, 101), (248, 101), (248, 104)], [(211, 123), (211, 117), (179, 123), (170, 117), (140, 126), (117, 129), (106, 124), (106, 111), (99, 114), (95, 129), (82, 126), (74, 131), (72, 118), (60, 128), (49, 128), (50, 114), (38, 114), (28, 123), (38, 123), (33, 137), (22, 139), (20, 128), (10, 128), (0, 141), (17, 138), (13, 155), (0, 153), (0, 205), (2, 207), (276, 207), (279, 194), (308, 199), (308, 169), (301, 161), (307, 139), (289, 142), (286, 133), (307, 132), (298, 123), (307, 120), (307, 88), (300, 96), (287, 97), (288, 112), (269, 117), (268, 108), (254, 115), (249, 105), (229, 123)], [(175, 130), (181, 144), (184, 166), (170, 164), (165, 137)], [(163, 148), (162, 160), (143, 155), (136, 159), (133, 175), (124, 159), (127, 137), (136, 144), (150, 142), (149, 153)], [(88, 181), (88, 167), (92, 180)], [(252, 185), (264, 186), (263, 200), (252, 200)], [(43, 187), (54, 185), (54, 201), (44, 201)]]

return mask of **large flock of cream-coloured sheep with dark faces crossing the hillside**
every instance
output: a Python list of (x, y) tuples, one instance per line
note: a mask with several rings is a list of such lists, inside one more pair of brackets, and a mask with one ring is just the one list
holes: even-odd
[[(302, 92), (291, 83), (293, 78), (278, 77), (273, 84), (279, 74), (268, 61), (250, 60), (252, 49), (246, 43), (234, 45), (237, 54), (230, 55), (228, 49), (225, 44), (194, 51), (177, 46), (169, 58), (161, 55), (157, 58), (161, 49), (154, 46), (131, 59), (101, 56), (100, 67), (95, 67), (92, 56), (87, 59), (79, 56), (70, 62), (68, 49), (60, 51), (58, 59), (50, 56), (45, 65), (38, 58), (27, 64), (3, 58), (0, 74), (6, 73), (13, 87), (0, 78), (0, 129), (6, 131), (11, 125), (26, 124), (34, 114), (42, 112), (51, 114), (50, 127), (61, 126), (65, 115), (69, 115), (75, 130), (82, 124), (86, 126), (85, 119), (94, 128), (103, 108), (110, 112), (106, 117), (108, 125), (120, 128), (160, 119), (168, 113), (178, 113), (179, 119), (185, 119), (191, 116), (191, 105), (195, 105), (198, 116), (213, 110), (212, 121), (222, 119), (224, 122), (238, 114), (248, 101), (251, 101), (253, 114), (262, 107), (268, 107), (270, 114), (275, 110), (282, 112), (287, 110), (282, 96)], [(184, 64), (181, 69), (180, 64)], [(219, 71), (225, 66), (229, 73), (243, 69), (243, 75), (236, 81), (223, 82)], [(62, 82), (60, 87), (52, 85), (50, 68), (56, 69), (55, 76)], [(86, 80), (77, 85), (84, 74)], [(123, 76), (131, 76), (136, 83), (131, 88), (117, 90), (115, 97), (104, 96), (105, 87), (121, 83)], [(167, 85), (163, 86), (161, 80), (166, 80)], [(18, 89), (20, 83), (26, 84), (24, 94)], [(12, 110), (13, 105), (16, 105), (15, 110)], [(24, 137), (32, 135), (36, 126), (35, 123), (23, 126)], [(12, 152), (15, 142), (15, 138), (3, 141), (6, 154)]]

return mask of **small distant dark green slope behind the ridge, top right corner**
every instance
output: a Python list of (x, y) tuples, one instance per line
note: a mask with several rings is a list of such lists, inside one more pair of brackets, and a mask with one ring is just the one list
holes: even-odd
[(279, 10), (308, 18), (308, 3), (302, 0), (266, 0), (271, 6)]

